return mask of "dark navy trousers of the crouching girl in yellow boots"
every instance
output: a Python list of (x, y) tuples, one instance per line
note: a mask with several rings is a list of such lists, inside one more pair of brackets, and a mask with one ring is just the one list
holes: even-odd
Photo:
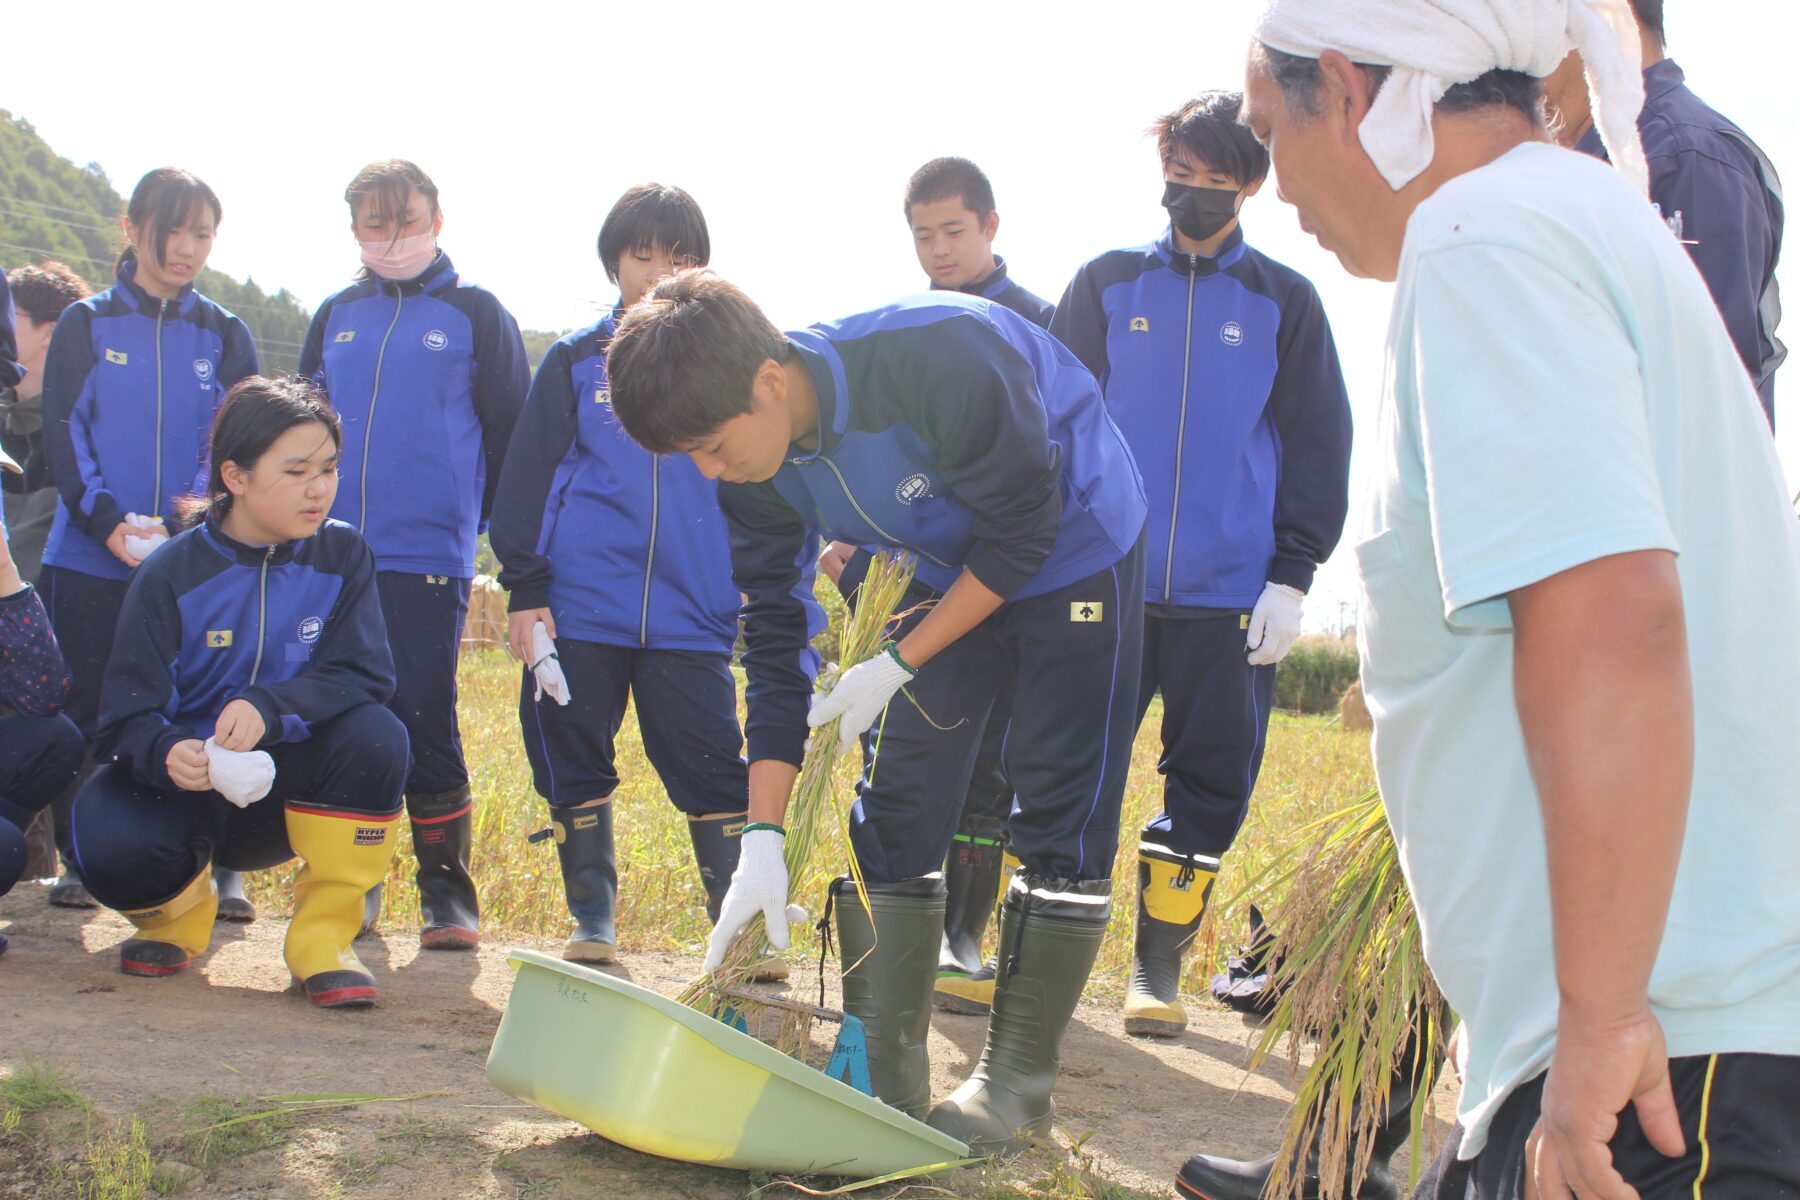
[(209, 864), (261, 871), (293, 858), (286, 806), (338, 813), (400, 811), (407, 730), (387, 709), (364, 703), (319, 725), (306, 741), (263, 747), (275, 786), (248, 808), (218, 792), (153, 788), (108, 763), (76, 795), (74, 860), (88, 892), (108, 909), (149, 909), (175, 896)]

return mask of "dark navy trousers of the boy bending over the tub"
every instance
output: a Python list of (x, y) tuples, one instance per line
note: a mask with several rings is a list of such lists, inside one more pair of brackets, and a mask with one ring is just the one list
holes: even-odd
[(1143, 651), (1141, 596), (1139, 543), (1085, 579), (1004, 604), (920, 669), (907, 684), (913, 700), (896, 694), (864, 739), (850, 842), (866, 878), (893, 883), (943, 869), (1006, 682), (1013, 855), (1048, 878), (1111, 878)]

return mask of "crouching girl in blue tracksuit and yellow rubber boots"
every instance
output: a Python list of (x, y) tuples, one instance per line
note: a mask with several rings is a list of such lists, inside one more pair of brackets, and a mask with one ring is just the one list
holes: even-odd
[[(239, 383), (212, 428), (203, 524), (126, 594), (101, 698), (110, 761), (72, 822), (88, 891), (137, 927), (119, 948), (126, 975), (173, 975), (205, 952), (214, 862), (299, 855), (288, 970), (320, 1007), (374, 1002), (349, 946), (394, 858), (407, 730), (382, 707), (394, 666), (374, 556), (326, 520), (340, 444), (311, 385)], [(227, 752), (266, 754), (272, 788), (216, 779)]]

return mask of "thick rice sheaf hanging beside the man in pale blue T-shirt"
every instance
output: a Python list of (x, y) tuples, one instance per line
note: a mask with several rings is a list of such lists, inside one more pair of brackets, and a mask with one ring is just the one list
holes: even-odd
[[(1375, 1124), (1395, 1074), (1418, 1072), (1415, 1092), (1429, 1092), (1445, 1020), (1381, 797), (1370, 793), (1303, 826), (1294, 847), (1246, 889), (1251, 885), (1280, 896), (1269, 905), (1276, 930), (1269, 984), (1280, 999), (1253, 1069), (1283, 1036), (1294, 1070), (1301, 1045), (1318, 1043), (1294, 1090), (1267, 1195), (1300, 1196), (1303, 1171), (1294, 1168), (1318, 1137), (1321, 1195), (1354, 1196), (1368, 1173)], [(1415, 1180), (1426, 1108), (1415, 1103), (1411, 1110)]]

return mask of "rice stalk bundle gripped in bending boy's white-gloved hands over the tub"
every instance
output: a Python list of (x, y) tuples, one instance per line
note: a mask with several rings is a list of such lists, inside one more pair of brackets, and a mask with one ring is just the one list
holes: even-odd
[[(898, 624), (898, 621), (907, 615), (898, 612), (900, 603), (905, 599), (907, 588), (913, 583), (913, 558), (896, 554), (877, 554), (869, 561), (869, 572), (857, 590), (857, 603), (851, 610), (848, 621), (844, 622), (842, 640), (839, 642), (841, 666), (833, 664), (819, 675), (819, 689), (828, 691), (842, 671), (873, 658), (882, 653), (889, 633)], [(877, 748), (880, 747), (880, 730), (877, 729)], [(801, 763), (799, 779), (794, 784), (794, 797), (787, 810), (787, 840), (783, 846), (783, 858), (788, 869), (788, 880), (803, 880), (814, 871), (814, 853), (819, 846), (819, 833), (824, 829), (824, 822), (833, 819), (837, 810), (832, 802), (832, 763), (837, 759), (837, 721), (821, 725), (812, 732), (806, 741), (806, 757)], [(851, 855), (851, 873), (855, 873), (855, 855)], [(862, 894), (862, 880), (857, 878), (857, 891)], [(868, 905), (868, 896), (862, 896), (862, 903)], [(711, 975), (702, 975), (695, 979), (688, 988), (677, 997), (682, 1004), (700, 1009), (704, 1013), (713, 1013), (715, 1016), (725, 1015), (727, 1009), (743, 1013), (754, 1007), (756, 1002), (749, 1000), (745, 982), (751, 977), (752, 966), (769, 955), (769, 936), (763, 928), (763, 921), (751, 919), (738, 936), (733, 937), (731, 946), (725, 950), (725, 961)], [(781, 1034), (778, 1038), (778, 1047), (796, 1058), (805, 1058), (810, 1033), (812, 1016), (805, 1011), (796, 1011), (803, 1006), (778, 1006), (783, 1007)]]

